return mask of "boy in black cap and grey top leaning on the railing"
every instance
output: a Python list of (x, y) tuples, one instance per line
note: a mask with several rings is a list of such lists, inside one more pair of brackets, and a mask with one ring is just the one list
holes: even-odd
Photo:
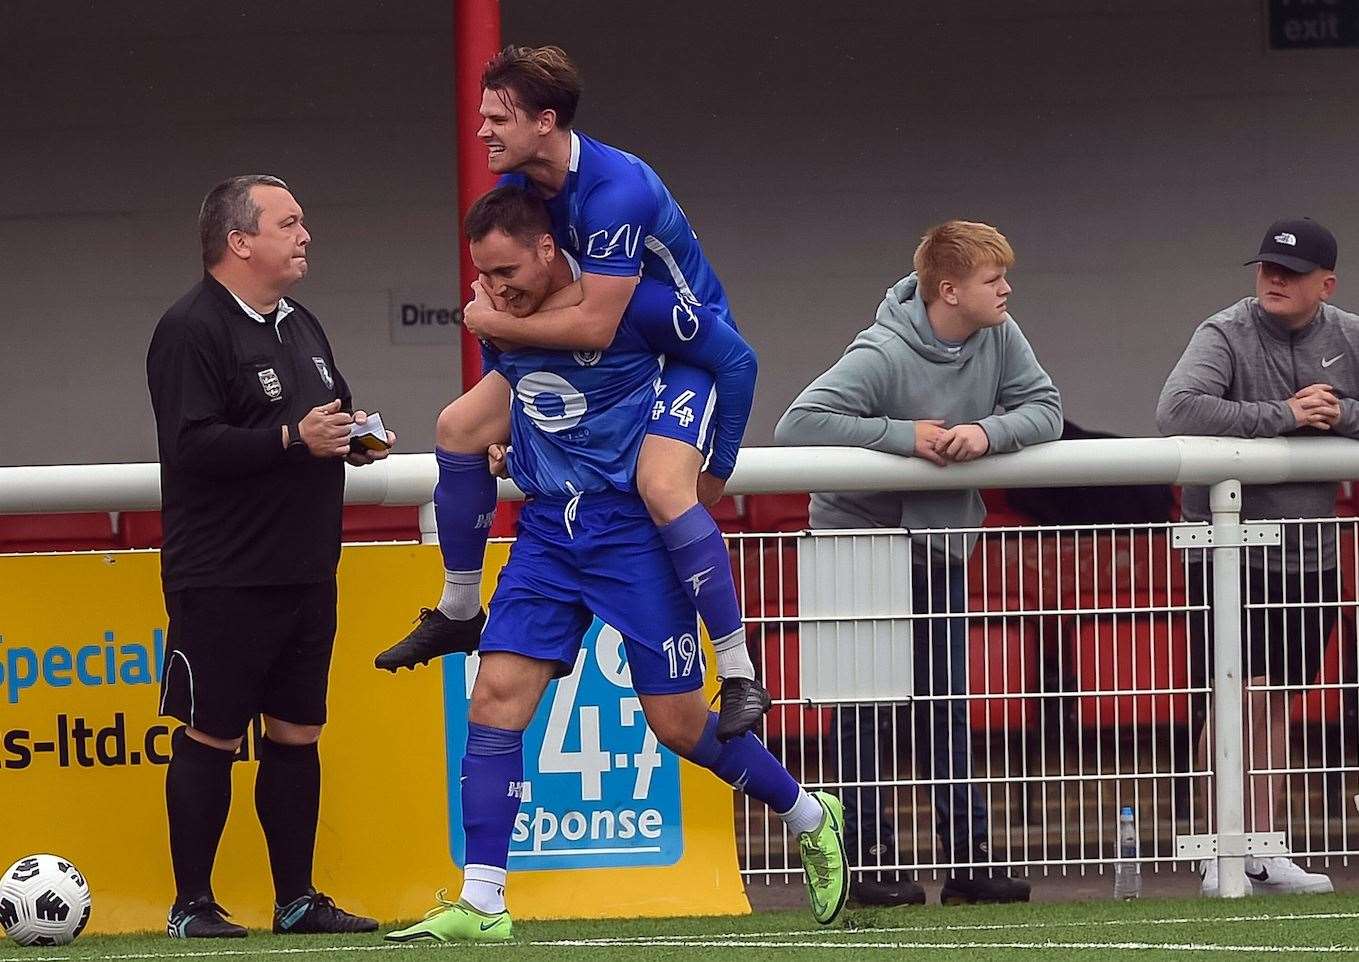
[[(1314, 220), (1277, 220), (1265, 231), (1256, 265), (1256, 296), (1199, 325), (1157, 404), (1166, 435), (1276, 438), (1286, 433), (1359, 436), (1359, 317), (1326, 302), (1336, 289), (1336, 238)], [(1329, 518), (1333, 481), (1248, 485), (1242, 518)], [(1208, 520), (1207, 488), (1184, 492), (1185, 520)], [(1288, 701), (1321, 666), (1336, 624), (1339, 576), (1332, 524), (1284, 524), (1283, 548), (1243, 553), (1242, 666), (1250, 768), (1286, 768)], [(1189, 603), (1212, 596), (1212, 564), (1189, 565)], [(1301, 602), (1301, 605), (1299, 605)], [(1284, 606), (1291, 607), (1284, 607)], [(1263, 607), (1261, 607), (1263, 606)], [(1211, 666), (1211, 613), (1189, 621), (1195, 681)], [(1196, 705), (1201, 730), (1205, 705)], [(1271, 751), (1273, 749), (1273, 751)], [(1282, 800), (1280, 776), (1248, 777), (1246, 832), (1269, 832)], [(1218, 863), (1203, 864), (1203, 893), (1218, 894)], [(1325, 893), (1330, 879), (1284, 856), (1246, 857), (1248, 891)]]

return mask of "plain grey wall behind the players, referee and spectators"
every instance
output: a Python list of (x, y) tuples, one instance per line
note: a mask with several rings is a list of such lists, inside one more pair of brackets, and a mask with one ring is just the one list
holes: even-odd
[[(292, 182), (315, 235), (299, 299), (357, 397), (427, 450), (457, 357), (391, 346), (385, 292), (451, 289), (451, 0), (86, 7), (5, 14), (29, 39), (0, 92), (0, 391), (33, 431), (0, 463), (154, 457), (145, 341), (197, 276), (202, 192), (243, 170)], [(761, 355), (750, 443), (950, 216), (1010, 236), (1012, 313), (1087, 427), (1152, 431), (1276, 216), (1336, 232), (1337, 303), (1359, 307), (1359, 52), (1268, 53), (1261, 10), (503, 3), (507, 41), (582, 64), (582, 129), (690, 215)]]

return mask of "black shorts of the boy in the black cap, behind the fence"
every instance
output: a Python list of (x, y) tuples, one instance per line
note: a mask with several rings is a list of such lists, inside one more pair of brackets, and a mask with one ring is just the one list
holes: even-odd
[[(1212, 561), (1190, 561), (1188, 579), (1189, 603), (1210, 606), (1189, 616), (1189, 669), (1197, 686), (1212, 675)], [(1242, 565), (1242, 677), (1310, 685), (1336, 626), (1339, 601), (1335, 568), (1287, 573)]]

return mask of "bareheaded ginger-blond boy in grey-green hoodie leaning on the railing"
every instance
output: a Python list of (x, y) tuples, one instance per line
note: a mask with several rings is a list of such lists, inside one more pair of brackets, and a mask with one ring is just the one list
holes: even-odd
[[(915, 273), (897, 281), (836, 364), (798, 395), (775, 428), (780, 444), (843, 444), (924, 458), (940, 469), (987, 454), (1017, 451), (1061, 433), (1061, 399), (1007, 313), (1007, 269), (1014, 251), (993, 227), (950, 220), (916, 249)], [(814, 529), (974, 527), (985, 516), (973, 489), (814, 493)], [(966, 611), (965, 561), (976, 534), (925, 537), (913, 544), (912, 595), (917, 613)], [(930, 779), (939, 853), (954, 863), (991, 860), (987, 806), (970, 787), (965, 617), (915, 622), (913, 712), (917, 768)], [(878, 781), (879, 723), (894, 711), (847, 707), (836, 712), (840, 772), (847, 783)], [(889, 743), (896, 743), (894, 738)], [(892, 826), (877, 788), (847, 789), (845, 836), (860, 868), (851, 893), (860, 902), (923, 902), (909, 879), (881, 882), (868, 872), (897, 860)], [(882, 876), (889, 878), (890, 876)], [(940, 901), (1027, 901), (1029, 885), (1000, 870), (958, 870)]]

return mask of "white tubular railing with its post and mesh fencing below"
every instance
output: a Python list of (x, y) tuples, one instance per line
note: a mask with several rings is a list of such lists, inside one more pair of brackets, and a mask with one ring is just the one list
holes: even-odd
[[(393, 455), (368, 467), (348, 469), (345, 500), (355, 504), (428, 505), (435, 477), (432, 455)], [(995, 860), (1002, 864), (1041, 871), (1053, 867), (1084, 871), (1087, 866), (1108, 864), (1114, 860), (1114, 803), (1131, 798), (1146, 814), (1144, 799), (1150, 796), (1151, 818), (1142, 819), (1143, 860), (1158, 867), (1182, 863), (1192, 857), (1193, 844), (1200, 851), (1216, 847), (1220, 891), (1237, 895), (1245, 889), (1246, 856), (1273, 851), (1268, 838), (1246, 833), (1249, 804), (1254, 804), (1260, 794), (1250, 792), (1253, 800), (1248, 804), (1243, 779), (1249, 785), (1258, 784), (1261, 779), (1301, 779), (1306, 783), (1307, 779), (1321, 777), (1328, 781), (1322, 799), (1317, 802), (1322, 814), (1320, 827), (1316, 827), (1320, 838), (1313, 830), (1317, 821), (1311, 818), (1313, 799), (1310, 795), (1299, 796), (1298, 810), (1306, 814), (1301, 832), (1305, 841), (1299, 851), (1324, 857), (1359, 852), (1354, 848), (1355, 826), (1348, 807), (1335, 802), (1336, 798), (1348, 798), (1347, 781), (1352, 781), (1359, 770), (1354, 760), (1352, 719), (1345, 716), (1340, 720), (1339, 743), (1335, 743), (1333, 735), (1320, 736), (1324, 741), (1320, 765), (1311, 764), (1317, 760), (1307, 743), (1302, 745), (1301, 757), (1292, 751), (1288, 738), (1279, 745), (1275, 728), (1264, 736), (1263, 753), (1260, 739), (1256, 739), (1252, 764), (1243, 757), (1242, 701), (1246, 697), (1268, 697), (1276, 686), (1248, 686), (1242, 681), (1241, 586), (1237, 577), (1229, 576), (1238, 571), (1243, 550), (1258, 550), (1250, 539), (1256, 530), (1243, 530), (1241, 524), (1241, 484), (1347, 478), (1359, 478), (1359, 444), (1347, 439), (1167, 438), (1055, 442), (943, 469), (919, 459), (855, 448), (746, 448), (728, 491), (739, 495), (972, 486), (1211, 485), (1212, 523), (1207, 529), (1146, 524), (991, 529), (976, 533), (980, 548), (970, 557), (962, 577), (973, 595), (966, 605), (966, 630), (969, 636), (977, 636), (970, 649), (976, 664), (980, 645), (981, 678), (973, 677), (968, 705), (973, 720), (978, 711), (983, 722), (999, 712), (999, 724), (981, 726), (981, 734), (976, 728), (966, 730), (966, 747), (974, 751), (966, 781), (983, 791), (991, 819), (988, 840)], [(500, 495), (506, 499), (520, 496), (504, 482)], [(133, 511), (158, 505), (156, 465), (0, 467), (0, 514)], [(1310, 523), (1335, 524), (1336, 537), (1348, 538), (1352, 554), (1355, 522)], [(421, 512), (421, 529), (427, 539), (434, 538), (432, 511), (428, 507)], [(912, 535), (919, 544), (931, 538), (957, 538), (958, 531), (915, 531)], [(1178, 546), (1174, 544), (1177, 535)], [(772, 747), (811, 785), (833, 787), (860, 798), (868, 792), (875, 804), (889, 799), (879, 807), (890, 811), (894, 819), (890, 827), (898, 851), (890, 857), (877, 853), (875, 870), (946, 870), (972, 864), (969, 853), (943, 852), (936, 840), (931, 841), (932, 806), (916, 804), (917, 799), (911, 798), (917, 791), (957, 781), (957, 773), (920, 777), (897, 768), (902, 758), (916, 760), (920, 751), (928, 751), (917, 743), (921, 739), (915, 728), (909, 735), (901, 735), (896, 724), (897, 713), (920, 713), (921, 708), (951, 704), (957, 696), (917, 690), (909, 697), (912, 708), (904, 707), (902, 700), (867, 702), (868, 711), (879, 716), (877, 720), (883, 720), (882, 713), (887, 715), (883, 731), (887, 732), (890, 753), (877, 754), (878, 762), (887, 770), (858, 770), (852, 779), (845, 779), (844, 750), (828, 742), (824, 728), (832, 713), (858, 709), (847, 708), (848, 702), (843, 700), (809, 704), (796, 694), (791, 659), (798, 649), (790, 644), (790, 636), (796, 636), (802, 618), (796, 610), (795, 560), (788, 567), (795, 544), (795, 535), (733, 538), (747, 622), (765, 678), (780, 693), (776, 709), (766, 720), (765, 734)], [(1192, 580), (1189, 554), (1211, 554), (1214, 569), (1211, 586), (1200, 575), (1204, 590), (1195, 603), (1185, 592)], [(1131, 561), (1120, 567), (1118, 558)], [(1343, 552), (1341, 567), (1344, 558)], [(1284, 595), (1282, 601), (1261, 602), (1248, 592), (1246, 610), (1321, 610), (1329, 606), (1348, 611), (1351, 635), (1345, 644), (1352, 647), (1355, 586), (1349, 582), (1356, 567), (1359, 564), (1352, 563), (1343, 577), (1335, 575), (1336, 601), (1291, 601)], [(980, 586), (976, 592), (974, 583)], [(1210, 590), (1211, 603), (1207, 596)], [(775, 596), (772, 602), (771, 594)], [(1208, 611), (1215, 628), (1211, 682), (1192, 675), (1158, 678), (1154, 671), (1144, 682), (1132, 678), (1131, 686), (1129, 679), (1120, 678), (1120, 652), (1128, 644), (1139, 643), (1143, 626), (1151, 637), (1162, 632), (1158, 658), (1174, 662), (1182, 656), (1181, 663), (1190, 662), (1195, 652), (1188, 626), (1192, 618), (1204, 617)], [(947, 621), (947, 614), (912, 611), (909, 620), (912, 624)], [(1345, 622), (1345, 618), (1340, 621)], [(1205, 662), (1207, 643), (1201, 644), (1200, 660)], [(1052, 683), (1052, 679), (1042, 679), (1031, 686), (1008, 683), (1008, 675), (1015, 671), (1021, 679), (1030, 678), (1036, 666), (1040, 671), (1056, 671), (1056, 679)], [(1068, 670), (1074, 674), (1068, 675)], [(1136, 670), (1136, 662), (1132, 670)], [(1064, 683), (1070, 678), (1075, 678), (1074, 685)], [(1354, 690), (1359, 686), (1352, 677), (1341, 675), (1321, 683), (1307, 679), (1306, 685), (1296, 688), (1309, 697), (1322, 698), (1326, 705), (1333, 701), (1326, 693), (1337, 692), (1348, 697), (1345, 704), (1352, 705)], [(1169, 707), (1166, 711), (1171, 720), (1177, 717), (1176, 711), (1188, 711), (1192, 716), (1195, 705), (1203, 707), (1200, 713), (1211, 724), (1211, 766), (1207, 757), (1197, 758), (1192, 717), (1178, 727), (1158, 724), (1162, 720), (1157, 713), (1158, 704)], [(1086, 724), (1082, 715), (1086, 709), (1094, 712), (1095, 724)], [(1142, 723), (1144, 712), (1148, 724)], [(1044, 723), (1053, 719), (1055, 727), (1036, 728), (1029, 713), (1037, 713)], [(1112, 726), (1101, 722), (1106, 713), (1113, 720)], [(1125, 713), (1132, 715), (1131, 724), (1125, 724)], [(1287, 728), (1284, 731), (1287, 735)], [(938, 731), (927, 732), (925, 741), (939, 738)], [(950, 730), (943, 738), (954, 739), (955, 731)], [(883, 754), (889, 755), (887, 761), (883, 761)], [(1340, 785), (1339, 796), (1336, 784)], [(1211, 806), (1207, 798), (1200, 799), (1210, 785), (1214, 791)], [(1287, 799), (1286, 817), (1298, 840), (1294, 796), (1290, 794)], [(863, 834), (863, 826), (858, 827), (858, 833)], [(1190, 841), (1181, 847), (1174, 844), (1186, 838)], [(741, 840), (743, 870), (749, 878), (792, 876), (799, 871), (795, 859), (790, 857), (790, 840), (766, 814), (745, 807)], [(906, 842), (905, 851), (900, 848), (902, 841)]]

